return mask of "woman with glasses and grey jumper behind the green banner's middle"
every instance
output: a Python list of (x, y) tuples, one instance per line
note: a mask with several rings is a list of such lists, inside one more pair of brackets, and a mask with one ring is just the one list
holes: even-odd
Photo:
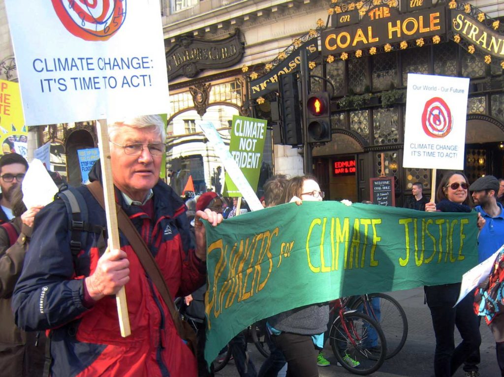
[[(324, 191), (314, 177), (293, 177), (287, 183), (283, 202), (321, 201)], [(270, 317), (267, 322), (272, 340), (287, 361), (287, 377), (317, 377), (318, 349), (324, 347), (329, 323), (328, 303), (312, 304)], [(318, 349), (316, 348), (318, 347)]]

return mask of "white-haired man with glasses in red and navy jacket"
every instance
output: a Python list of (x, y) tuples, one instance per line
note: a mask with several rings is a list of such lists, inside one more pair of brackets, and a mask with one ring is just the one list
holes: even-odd
[[(90, 184), (76, 188), (84, 201), (81, 212), (88, 212), (82, 243), (70, 244), (72, 219), (62, 199), (36, 216), (12, 298), (16, 324), (27, 331), (51, 329), (46, 365), (52, 377), (196, 377), (186, 337), (191, 334), (177, 330), (173, 299), (205, 283), (201, 219), (216, 226), (222, 216), (196, 212), (195, 245), (182, 199), (159, 179), (166, 138), (159, 115), (111, 121), (108, 133), (120, 249), (106, 248), (97, 162)], [(122, 287), (131, 327), (124, 338), (113, 297)]]

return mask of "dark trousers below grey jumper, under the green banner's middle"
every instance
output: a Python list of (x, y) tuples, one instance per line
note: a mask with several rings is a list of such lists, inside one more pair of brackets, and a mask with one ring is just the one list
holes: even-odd
[(287, 377), (319, 377), (317, 354), (310, 335), (282, 332), (272, 336), (287, 361)]

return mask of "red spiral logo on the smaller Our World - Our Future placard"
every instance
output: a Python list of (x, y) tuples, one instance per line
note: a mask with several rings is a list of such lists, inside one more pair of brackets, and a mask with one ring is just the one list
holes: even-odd
[(447, 103), (434, 97), (425, 103), (422, 113), (422, 127), (427, 136), (445, 137), (453, 127), (452, 112)]

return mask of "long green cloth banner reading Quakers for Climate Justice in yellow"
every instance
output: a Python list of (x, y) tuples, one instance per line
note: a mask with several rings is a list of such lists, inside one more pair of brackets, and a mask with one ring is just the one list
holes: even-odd
[(477, 215), (340, 202), (282, 204), (207, 231), (205, 358), (250, 324), (341, 296), (461, 281)]

